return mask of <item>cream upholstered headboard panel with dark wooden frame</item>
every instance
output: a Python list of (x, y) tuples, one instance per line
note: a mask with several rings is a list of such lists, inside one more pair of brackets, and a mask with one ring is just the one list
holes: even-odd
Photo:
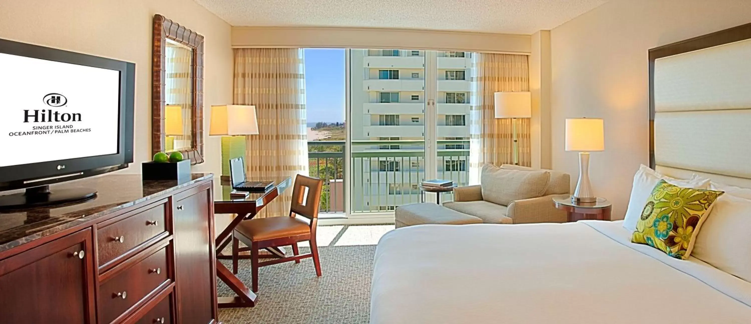
[(751, 24), (650, 49), (650, 163), (751, 187)]

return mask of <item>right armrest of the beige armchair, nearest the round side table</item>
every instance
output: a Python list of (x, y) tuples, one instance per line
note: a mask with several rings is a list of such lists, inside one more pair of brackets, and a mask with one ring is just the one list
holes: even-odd
[(506, 216), (514, 223), (566, 223), (569, 214), (556, 208), (553, 196), (514, 200), (508, 204)]

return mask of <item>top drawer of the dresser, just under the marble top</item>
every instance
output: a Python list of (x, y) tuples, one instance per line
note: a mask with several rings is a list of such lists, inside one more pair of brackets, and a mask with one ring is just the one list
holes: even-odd
[(165, 201), (146, 210), (134, 211), (129, 216), (98, 229), (97, 251), (100, 268), (164, 233), (167, 230), (166, 220)]

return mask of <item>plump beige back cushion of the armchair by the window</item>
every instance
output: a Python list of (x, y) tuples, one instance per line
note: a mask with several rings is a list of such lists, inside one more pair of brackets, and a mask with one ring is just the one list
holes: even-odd
[(482, 167), (482, 199), (507, 206), (514, 200), (544, 196), (550, 172), (501, 169), (492, 164)]

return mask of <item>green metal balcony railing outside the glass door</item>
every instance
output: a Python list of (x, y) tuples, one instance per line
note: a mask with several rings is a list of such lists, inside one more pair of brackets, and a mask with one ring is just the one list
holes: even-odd
[[(345, 190), (351, 190), (351, 212), (392, 211), (399, 205), (424, 201), (418, 184), (425, 179), (423, 141), (353, 141), (351, 172), (345, 170), (344, 141), (308, 142), (310, 175), (324, 180), (321, 212), (344, 212)], [(379, 149), (379, 147), (397, 149)], [(448, 146), (447, 146), (448, 145)], [(423, 146), (424, 147), (424, 146)], [(438, 178), (469, 183), (469, 141), (439, 140)], [(344, 185), (348, 175), (349, 187)], [(453, 199), (445, 193), (442, 201)]]

